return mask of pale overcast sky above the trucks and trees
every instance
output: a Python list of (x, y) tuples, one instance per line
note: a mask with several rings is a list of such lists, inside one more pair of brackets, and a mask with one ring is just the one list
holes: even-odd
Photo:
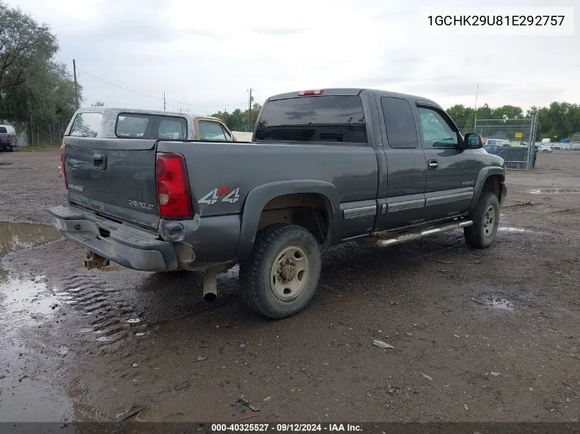
[(574, 36), (434, 36), (421, 15), (438, 3), (523, 8), (550, 0), (8, 3), (51, 26), (58, 59), (71, 70), (76, 59), (85, 105), (163, 109), (165, 91), (167, 110), (211, 114), (247, 107), (248, 88), (262, 103), (287, 91), (371, 87), (447, 108), (473, 106), (478, 82), (478, 106), (580, 101), (580, 8)]

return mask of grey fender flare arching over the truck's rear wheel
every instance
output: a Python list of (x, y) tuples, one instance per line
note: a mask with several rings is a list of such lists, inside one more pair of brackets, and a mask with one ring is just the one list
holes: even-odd
[(242, 212), (240, 241), (236, 254), (238, 262), (244, 263), (250, 258), (254, 248), (260, 215), (262, 215), (264, 206), (275, 197), (299, 193), (315, 193), (325, 199), (329, 227), (324, 245), (327, 246), (330, 244), (332, 241), (332, 232), (340, 219), (340, 200), (336, 187), (330, 182), (318, 180), (269, 182), (268, 184), (255, 187), (246, 196), (244, 210)]

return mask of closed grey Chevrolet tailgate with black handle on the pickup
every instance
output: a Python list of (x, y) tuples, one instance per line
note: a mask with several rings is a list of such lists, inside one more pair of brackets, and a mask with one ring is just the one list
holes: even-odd
[(157, 227), (156, 140), (66, 136), (63, 143), (70, 202)]

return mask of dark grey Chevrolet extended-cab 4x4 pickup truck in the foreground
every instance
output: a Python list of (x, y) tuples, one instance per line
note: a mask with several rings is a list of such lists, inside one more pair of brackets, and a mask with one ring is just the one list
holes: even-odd
[[(181, 122), (146, 118), (146, 131)], [(71, 133), (76, 122), (61, 148), (69, 206), (49, 212), (66, 239), (88, 249), (86, 267), (203, 271), (211, 301), (216, 275), (240, 264), (242, 297), (273, 318), (310, 302), (321, 249), (331, 245), (382, 248), (463, 228), (469, 245), (487, 248), (507, 191), (502, 158), (412, 95), (276, 95), (252, 143), (82, 137)]]

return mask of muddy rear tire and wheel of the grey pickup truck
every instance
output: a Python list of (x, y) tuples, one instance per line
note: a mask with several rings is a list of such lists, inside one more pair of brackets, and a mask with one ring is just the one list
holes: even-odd
[[(294, 263), (292, 263), (292, 258), (286, 258), (286, 255), (290, 253), (297, 255), (292, 256), (298, 258)], [(286, 274), (282, 274), (282, 267), (279, 267), (278, 274), (272, 276), (275, 261), (280, 261), (281, 258), (284, 258), (283, 261), (290, 261), (283, 265), (286, 267), (284, 269)], [(321, 262), (318, 241), (308, 230), (288, 224), (268, 226), (257, 234), (254, 250), (248, 263), (240, 265), (242, 298), (250, 309), (270, 318), (280, 319), (299, 313), (305, 309), (316, 292)], [(305, 265), (299, 265), (300, 263)], [(304, 278), (302, 281), (299, 279), (300, 272), (297, 270), (304, 266), (307, 267), (307, 271), (302, 272)], [(290, 276), (292, 279), (286, 283), (284, 277), (290, 278)], [(294, 298), (283, 300), (281, 297), (293, 297), (292, 291), (294, 291), (294, 289), (284, 288), (281, 293), (279, 288), (284, 285), (297, 285), (301, 289), (296, 291), (297, 295)], [(275, 292), (277, 290), (279, 295)]]

